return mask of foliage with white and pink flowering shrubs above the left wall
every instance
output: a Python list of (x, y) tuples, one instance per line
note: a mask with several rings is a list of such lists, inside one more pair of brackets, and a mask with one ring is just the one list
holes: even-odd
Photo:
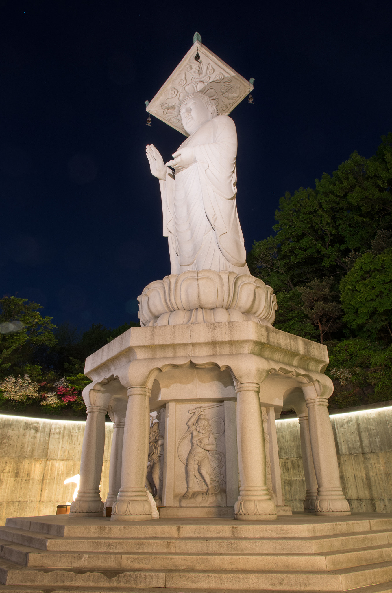
[(65, 323), (56, 327), (42, 308), (17, 297), (0, 299), (0, 409), (54, 415), (84, 415), (82, 390), (87, 356), (130, 327), (93, 324), (79, 333)]

